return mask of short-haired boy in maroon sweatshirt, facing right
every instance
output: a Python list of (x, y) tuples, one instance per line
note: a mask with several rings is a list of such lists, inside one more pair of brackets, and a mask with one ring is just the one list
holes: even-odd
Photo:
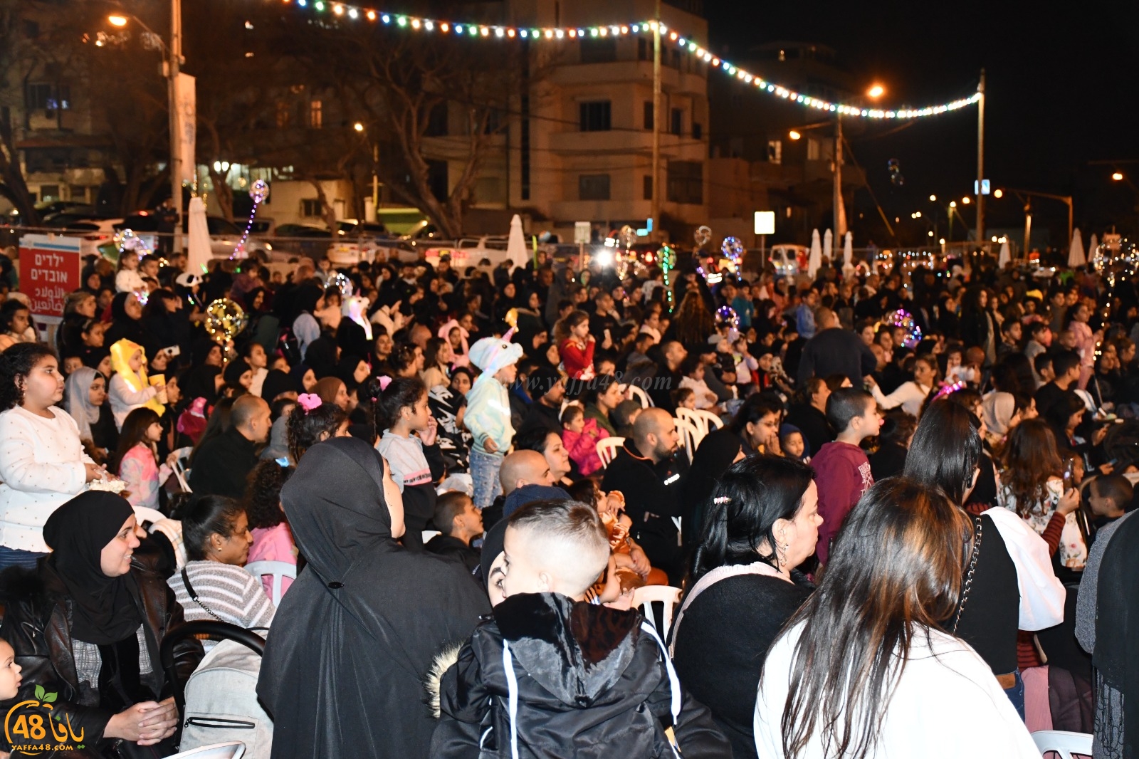
[(842, 387), (830, 393), (827, 398), (827, 421), (839, 431), (838, 435), (811, 459), (814, 482), (819, 488), (819, 516), (822, 517), (816, 547), (820, 564), (827, 563), (830, 541), (838, 534), (847, 512), (874, 484), (870, 460), (858, 444), (878, 434), (882, 426), (874, 398), (854, 387)]

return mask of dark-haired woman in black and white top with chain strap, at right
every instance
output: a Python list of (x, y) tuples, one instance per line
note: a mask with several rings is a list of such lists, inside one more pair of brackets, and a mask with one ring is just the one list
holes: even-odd
[[(931, 405), (913, 433), (906, 476), (964, 507), (981, 473), (980, 432), (981, 422), (961, 406), (948, 400)], [(947, 629), (981, 654), (1023, 717), (1017, 630), (1059, 625), (1064, 587), (1052, 573), (1047, 544), (1016, 515), (997, 507), (972, 520), (965, 589)]]

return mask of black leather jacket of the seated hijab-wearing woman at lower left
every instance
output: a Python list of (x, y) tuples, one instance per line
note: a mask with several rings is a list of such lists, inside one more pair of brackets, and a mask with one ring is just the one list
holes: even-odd
[[(150, 674), (141, 676), (141, 684), (158, 700), (172, 694), (171, 684), (158, 660), (158, 646), (171, 628), (181, 625), (182, 607), (165, 580), (138, 557), (131, 562), (138, 595), (134, 601), (142, 611), (147, 651), (150, 654)], [(72, 653), (72, 601), (67, 597), (58, 576), (41, 560), (36, 571), (9, 569), (0, 574), (0, 601), (5, 604), (0, 637), (16, 652), (16, 663), (23, 668), (23, 685), (10, 701), (0, 701), (0, 711), (7, 713), (14, 704), (34, 699), (35, 687), (58, 693), (52, 704), (54, 713), (66, 716), (77, 735), (83, 731), (89, 750), (97, 745), (104, 750), (109, 741), (101, 741), (107, 721), (114, 716), (99, 707), (80, 703), (80, 684)], [(174, 648), (179, 678), (185, 683), (202, 661), (202, 644), (186, 638)], [(7, 750), (6, 740), (0, 743)]]

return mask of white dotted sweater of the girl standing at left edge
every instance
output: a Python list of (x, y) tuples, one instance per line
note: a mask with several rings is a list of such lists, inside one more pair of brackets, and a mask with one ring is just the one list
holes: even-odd
[(51, 407), (54, 419), (19, 406), (0, 413), (0, 546), (44, 553), (43, 523), (83, 491), (84, 464), (79, 426)]

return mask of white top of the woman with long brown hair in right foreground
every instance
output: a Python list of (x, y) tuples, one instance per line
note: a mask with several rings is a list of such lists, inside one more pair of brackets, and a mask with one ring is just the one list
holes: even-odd
[[(755, 749), (761, 757), (784, 756), (780, 720), (801, 632), (802, 623), (779, 638), (768, 653), (753, 724)], [(925, 634), (915, 632), (909, 661), (885, 712), (876, 720), (880, 725), (878, 740), (867, 758), (1040, 759), (1024, 721), (989, 664), (964, 640), (944, 632), (931, 630), (929, 643), (932, 650)], [(816, 733), (800, 759), (825, 756)]]

